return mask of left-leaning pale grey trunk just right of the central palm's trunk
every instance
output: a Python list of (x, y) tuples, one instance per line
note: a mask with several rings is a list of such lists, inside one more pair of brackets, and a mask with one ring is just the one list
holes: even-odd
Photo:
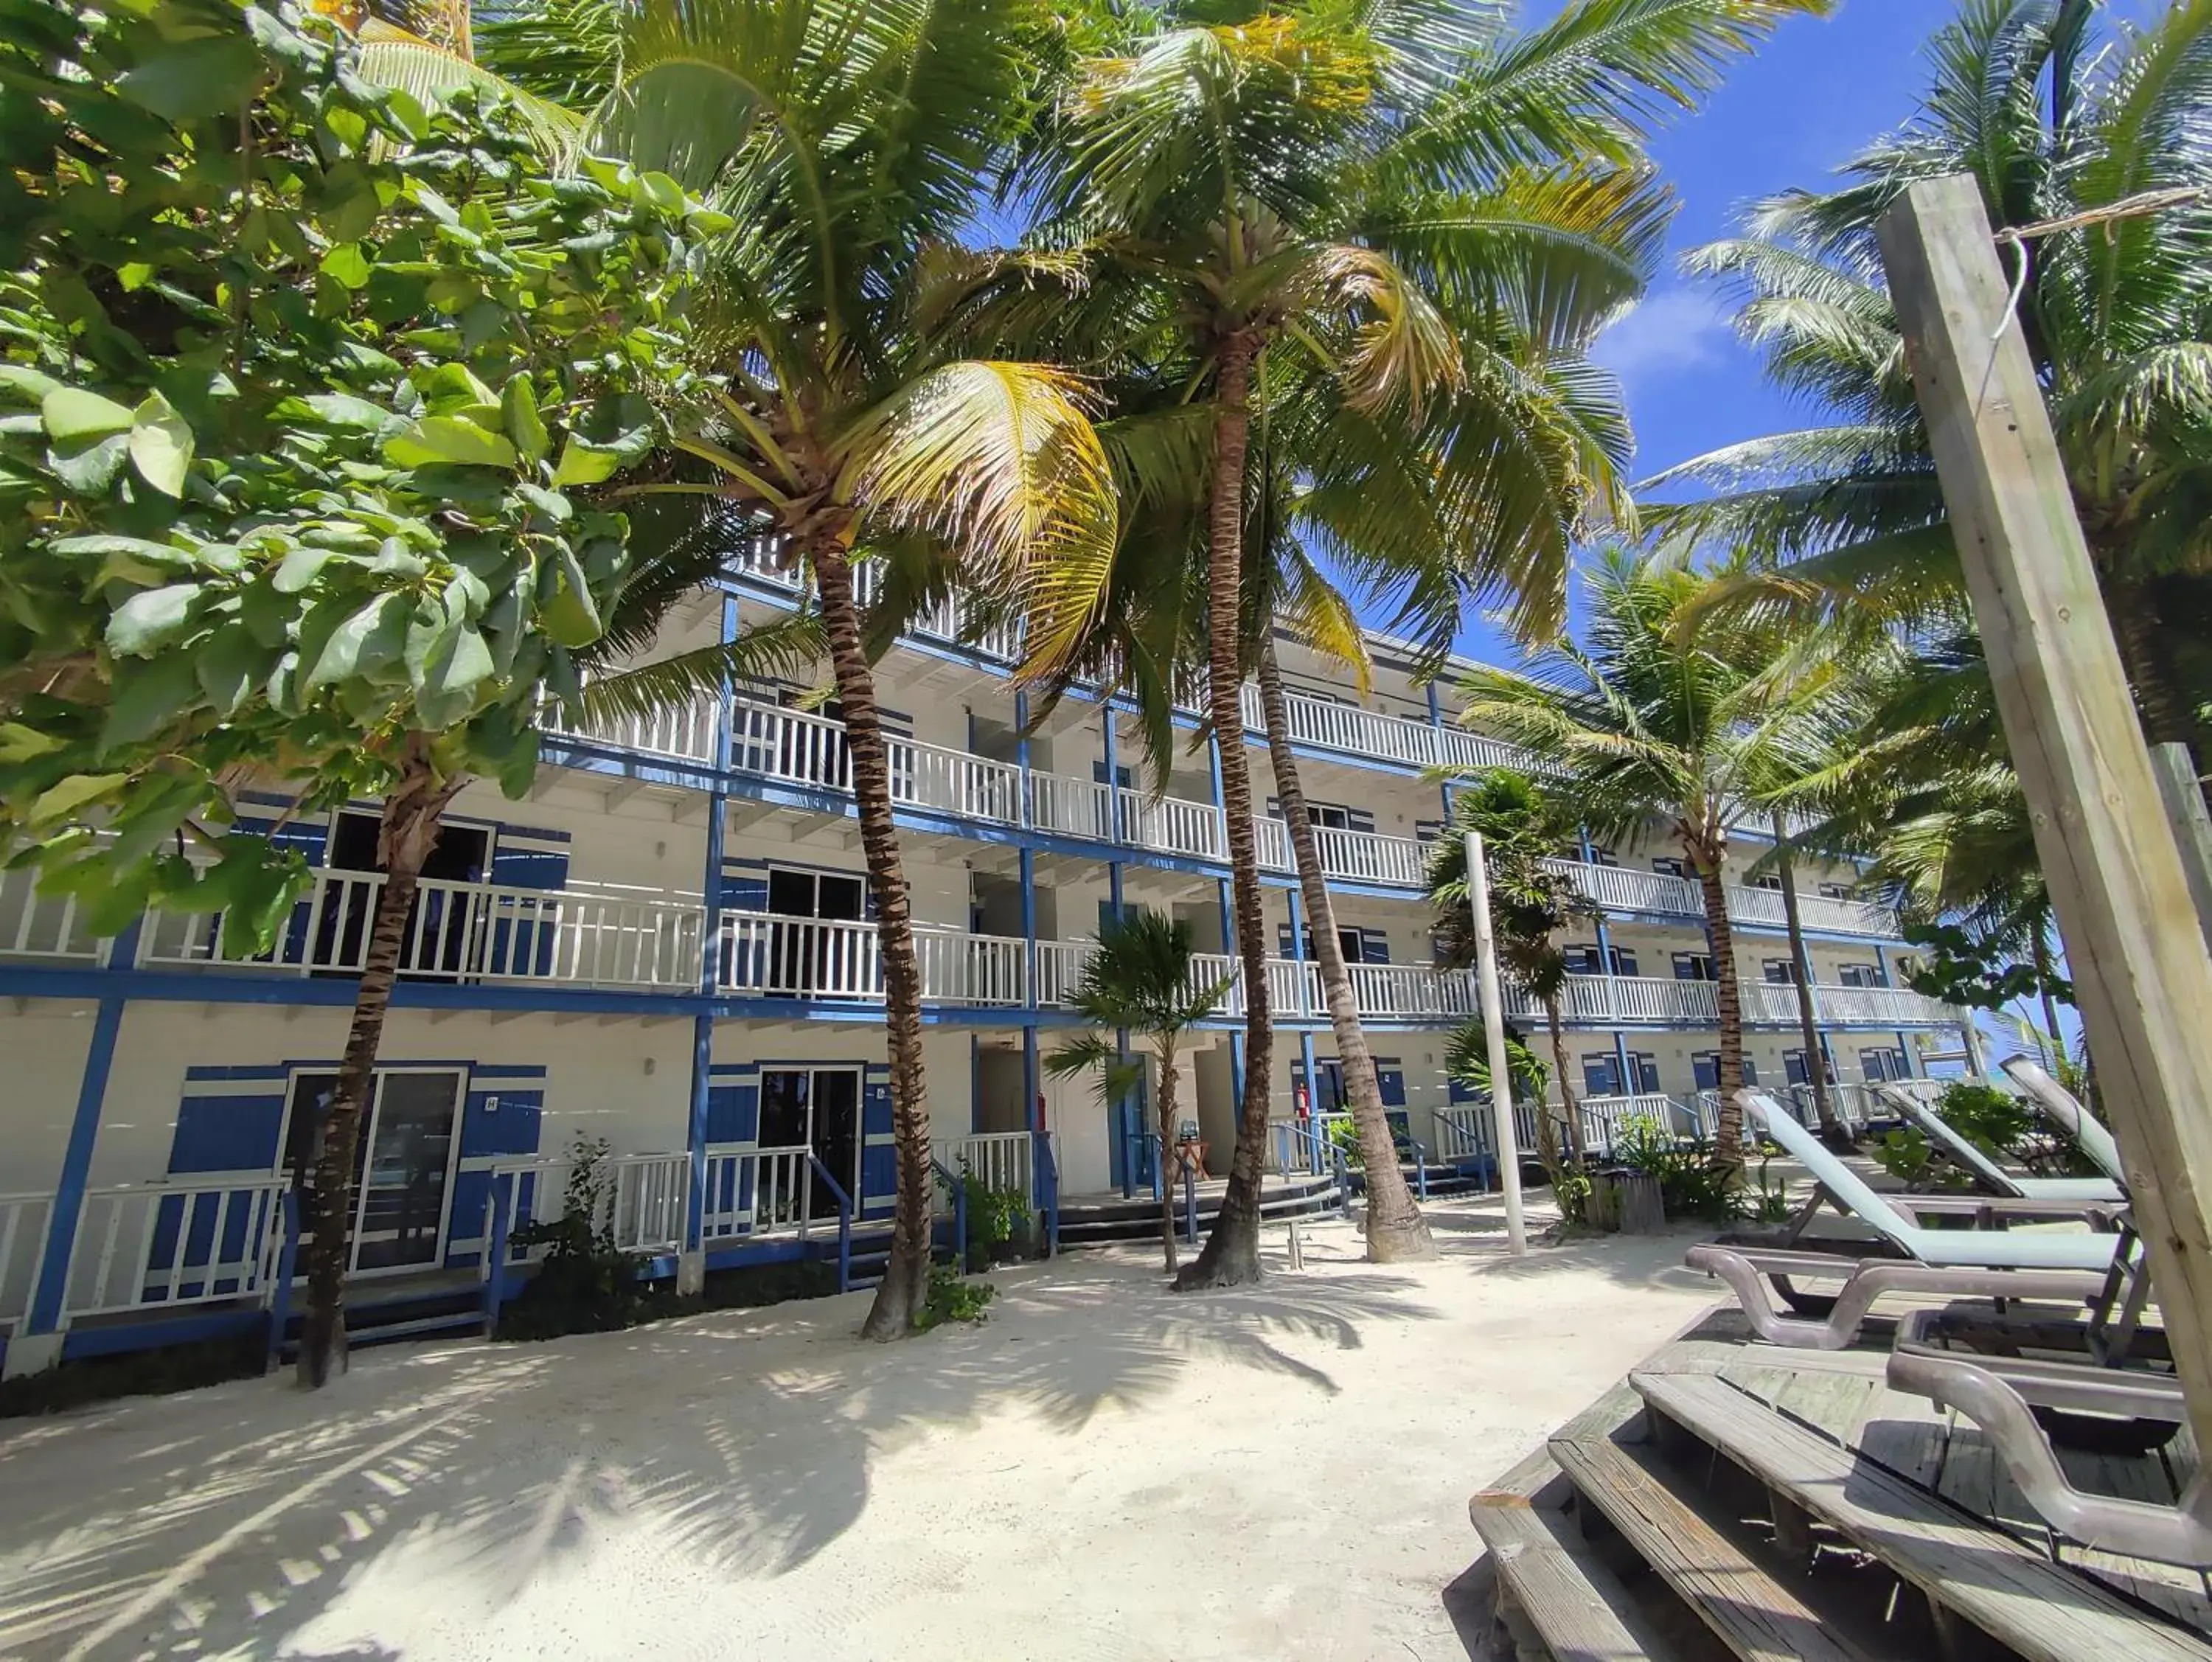
[[(1314, 817), (1305, 810), (1298, 783), (1298, 759), (1290, 752), (1290, 704), (1283, 699), (1283, 671), (1274, 662), (1274, 635), (1259, 648), (1259, 702), (1267, 715), (1267, 757), (1274, 764), (1274, 790), (1283, 801), (1290, 828), (1290, 852), (1298, 865), (1298, 892), (1314, 927), (1314, 963), (1321, 967), (1321, 996), (1329, 1005), (1329, 1027), (1336, 1031), (1336, 1060), (1345, 1069), (1345, 1098), (1352, 1102), (1352, 1126), (1360, 1133), (1360, 1164), (1367, 1168), (1367, 1261), (1400, 1264), (1436, 1257), (1429, 1224), (1413, 1204), (1413, 1193), (1398, 1168), (1398, 1144), (1383, 1111), (1383, 1084), (1376, 1080), (1376, 1058), (1360, 1027), (1360, 1000), (1345, 967), (1345, 947), (1336, 938), (1336, 910), (1321, 874), (1321, 845), (1314, 841)], [(1312, 1080), (1307, 1080), (1312, 1089)], [(1416, 1153), (1418, 1157), (1418, 1153)]]

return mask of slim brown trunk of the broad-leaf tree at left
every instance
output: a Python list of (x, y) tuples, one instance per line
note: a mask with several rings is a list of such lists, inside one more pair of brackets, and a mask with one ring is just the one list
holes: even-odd
[(376, 1082), (376, 1051), (385, 1042), (385, 1011), (400, 969), (407, 916), (414, 910), (422, 861), (438, 841), (445, 806), (467, 777), (438, 779), (429, 759), (429, 737), (407, 735), (400, 777), (385, 797), (376, 830), (376, 859), (385, 883), (376, 892), (369, 947), (354, 989), (354, 1020), (345, 1031), (345, 1058), (330, 1093), (330, 1113), (314, 1155), (312, 1215), (303, 1219), (307, 1239), (307, 1310), (299, 1330), (299, 1383), (319, 1390), (332, 1361), (345, 1370), (345, 1266), (354, 1248), (354, 1160), (361, 1122)]

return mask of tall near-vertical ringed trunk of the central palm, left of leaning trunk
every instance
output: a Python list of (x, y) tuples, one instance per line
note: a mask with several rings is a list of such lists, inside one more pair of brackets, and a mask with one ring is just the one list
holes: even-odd
[(1230, 890), (1237, 901), (1237, 956), (1245, 991), (1245, 1091), (1237, 1118), (1237, 1151), (1221, 1215), (1206, 1250), (1175, 1277), (1177, 1288), (1237, 1286), (1259, 1279), (1261, 1168), (1267, 1157), (1267, 1091), (1274, 1082), (1274, 1020), (1267, 1009), (1267, 916), (1259, 890), (1252, 830), (1252, 768), (1245, 759), (1237, 688), (1239, 582), (1243, 578), (1243, 469), (1250, 432), (1252, 354), (1256, 341), (1232, 334), (1221, 343), (1214, 385), (1214, 480), (1208, 502), (1206, 679), (1221, 752), (1221, 817), (1230, 837)]

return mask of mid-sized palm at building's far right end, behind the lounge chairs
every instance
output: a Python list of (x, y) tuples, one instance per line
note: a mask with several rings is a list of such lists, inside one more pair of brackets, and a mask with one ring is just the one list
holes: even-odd
[(1721, 1027), (1714, 1162), (1743, 1164), (1743, 996), (1728, 921), (1732, 825), (1767, 790), (1851, 675), (1834, 635), (1759, 631), (1712, 604), (1721, 578), (1606, 553), (1590, 573), (1586, 644), (1535, 653), (1531, 673), (1480, 668), (1462, 719), (1555, 759), (1559, 794), (1593, 832), (1661, 821), (1705, 901)]

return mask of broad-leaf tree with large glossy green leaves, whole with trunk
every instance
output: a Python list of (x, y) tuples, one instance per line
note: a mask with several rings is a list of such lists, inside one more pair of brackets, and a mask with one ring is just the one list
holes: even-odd
[(44, 887), (221, 907), (243, 952), (290, 887), (230, 876), (270, 865), (215, 837), (228, 788), (383, 797), (312, 1195), (321, 1383), (422, 854), (467, 777), (529, 786), (538, 706), (577, 690), (626, 567), (591, 489), (653, 443), (672, 297), (723, 221), (613, 164), (549, 179), (504, 108), (369, 91), (327, 22), (184, 0), (49, 46), (4, 186), (0, 385), (35, 414), (0, 480), (24, 631), (0, 797)]

